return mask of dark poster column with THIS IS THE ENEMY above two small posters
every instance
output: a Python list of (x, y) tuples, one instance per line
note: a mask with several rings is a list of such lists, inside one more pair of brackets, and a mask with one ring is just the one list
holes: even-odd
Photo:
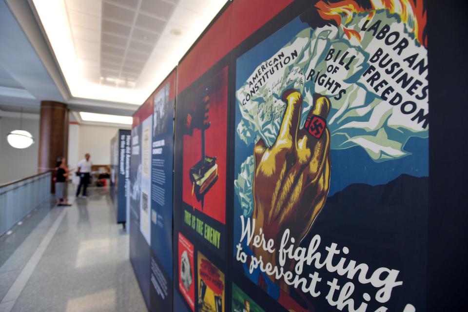
[(208, 306), (224, 311), (215, 304), (224, 307), (225, 302), (224, 278), (216, 279), (213, 288), (207, 282), (214, 276), (199, 276), (223, 275), (226, 269), (228, 67), (212, 72), (176, 99), (174, 246), (179, 258), (174, 288), (177, 304), (183, 297), (192, 311), (210, 311)]

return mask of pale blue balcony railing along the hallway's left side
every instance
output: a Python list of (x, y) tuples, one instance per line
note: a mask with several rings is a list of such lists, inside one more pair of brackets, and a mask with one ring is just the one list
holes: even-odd
[(0, 185), (0, 236), (50, 198), (51, 172)]

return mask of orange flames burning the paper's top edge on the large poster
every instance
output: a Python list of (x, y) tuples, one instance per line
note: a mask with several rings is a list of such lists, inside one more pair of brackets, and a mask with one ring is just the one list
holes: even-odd
[[(321, 0), (315, 4), (318, 9), (318, 14), (324, 20), (333, 20), (336, 25), (343, 26), (343, 30), (351, 39), (351, 36), (361, 39), (356, 36), (354, 30), (347, 29), (347, 25), (354, 14), (357, 13), (370, 13), (368, 19), (371, 19), (376, 10), (385, 9), (390, 14), (397, 14), (401, 21), (407, 25), (410, 31), (414, 34), (416, 39), (422, 45), (428, 45), (427, 36), (424, 36), (424, 29), (427, 23), (427, 14), (423, 6), (423, 0), (370, 0), (372, 9), (367, 10), (362, 8), (353, 0), (343, 0), (336, 3), (326, 3)], [(342, 17), (346, 17), (346, 21), (342, 21)], [(359, 35), (359, 34), (357, 34)]]

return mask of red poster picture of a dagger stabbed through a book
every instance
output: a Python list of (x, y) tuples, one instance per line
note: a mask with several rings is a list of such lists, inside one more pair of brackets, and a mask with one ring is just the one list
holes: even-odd
[(191, 95), (178, 103), (185, 109), (182, 199), (225, 224), (227, 67)]

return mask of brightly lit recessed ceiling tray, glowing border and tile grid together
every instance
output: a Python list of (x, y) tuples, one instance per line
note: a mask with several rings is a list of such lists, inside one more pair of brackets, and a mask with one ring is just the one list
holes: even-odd
[(226, 0), (29, 0), (73, 98), (140, 105)]

